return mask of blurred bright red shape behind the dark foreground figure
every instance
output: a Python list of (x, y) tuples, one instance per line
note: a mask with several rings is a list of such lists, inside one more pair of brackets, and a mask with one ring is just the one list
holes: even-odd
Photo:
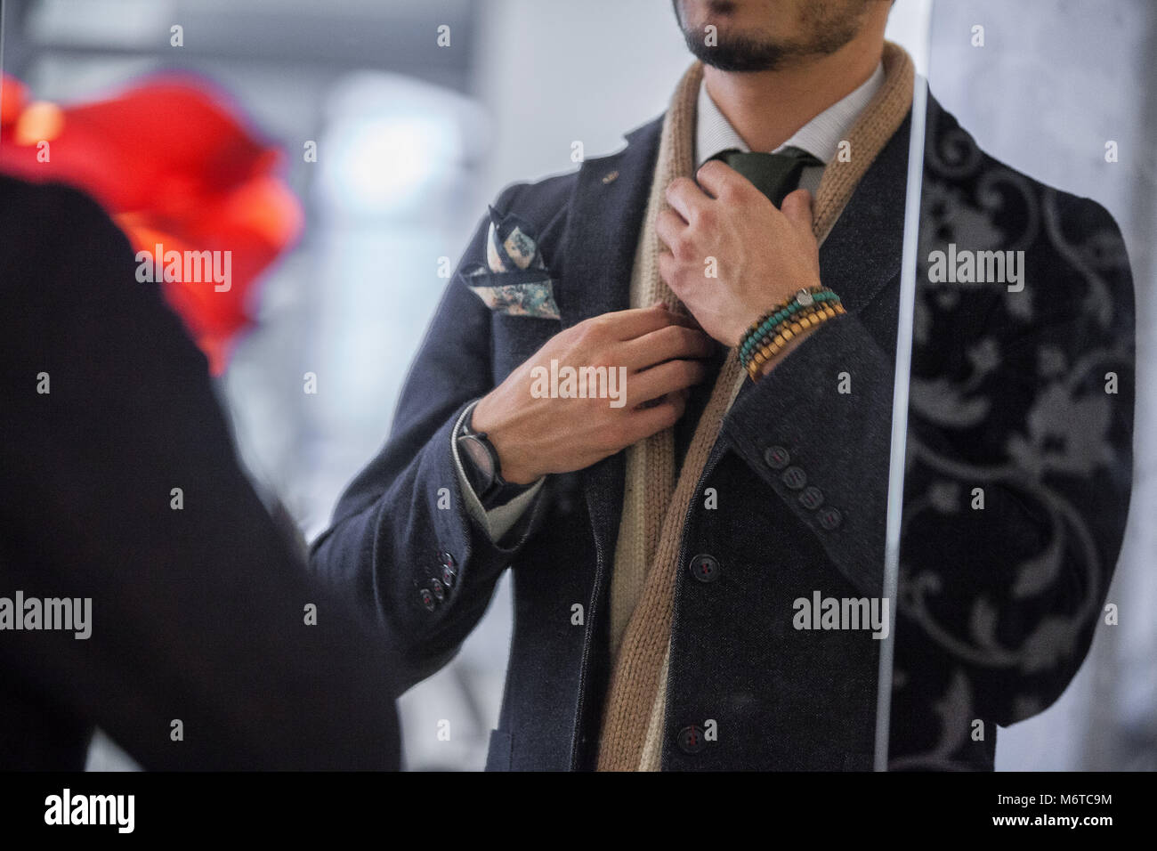
[(228, 288), (164, 280), (169, 303), (215, 375), (260, 273), (302, 228), (301, 204), (277, 176), (277, 148), (250, 133), (201, 83), (154, 78), (117, 97), (60, 107), (29, 101), (2, 78), (0, 170), (59, 181), (96, 198), (134, 250), (230, 251)]

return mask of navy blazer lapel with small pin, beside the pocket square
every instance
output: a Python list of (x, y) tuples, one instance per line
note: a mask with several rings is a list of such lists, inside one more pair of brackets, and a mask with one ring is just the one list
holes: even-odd
[[(588, 160), (578, 170), (555, 295), (563, 328), (631, 306), (631, 272), (662, 126), (662, 117), (644, 124), (626, 135), (626, 148)], [(625, 469), (624, 453), (616, 453), (581, 474), (602, 563), (596, 594), (614, 555)]]

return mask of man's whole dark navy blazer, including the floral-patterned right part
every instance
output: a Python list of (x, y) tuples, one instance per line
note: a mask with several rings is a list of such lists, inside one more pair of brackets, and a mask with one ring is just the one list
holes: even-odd
[[(510, 567), (488, 769), (594, 763), (624, 454), (550, 477), (521, 540), (500, 546), (464, 508), (451, 428), (551, 336), (628, 307), (659, 129), (501, 193), (500, 213), (537, 228), (561, 320), (492, 313), (454, 281), (384, 449), (315, 542), (315, 570), (381, 618), (407, 684), (454, 656)], [(699, 482), (680, 565), (706, 553), (718, 568), (677, 577), (664, 769), (871, 766), (880, 643), (793, 618), (815, 592), (882, 592), (908, 135), (906, 120), (821, 247), (848, 315), (747, 382)], [(924, 181), (891, 760), (990, 769), (995, 725), (1061, 694), (1104, 602), (1130, 486), (1133, 291), (1101, 207), (988, 157), (935, 100)], [(485, 261), (485, 233), (464, 264)], [(1027, 285), (927, 284), (926, 258), (949, 243), (1024, 250)], [(680, 749), (679, 731), (712, 721), (706, 747)]]

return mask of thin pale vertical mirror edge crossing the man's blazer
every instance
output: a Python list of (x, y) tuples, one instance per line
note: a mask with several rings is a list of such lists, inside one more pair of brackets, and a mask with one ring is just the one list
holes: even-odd
[[(931, 37), (931, 7), (927, 0), (919, 43), (927, 57)], [(898, 3), (899, 6), (899, 3)], [(893, 9), (893, 14), (896, 9)], [(904, 458), (908, 442), (908, 389), (912, 371), (912, 323), (916, 296), (916, 250), (920, 236), (920, 193), (924, 173), (924, 131), (928, 80), (918, 73), (912, 94), (912, 135), (908, 142), (908, 185), (904, 205), (904, 258), (900, 272), (900, 313), (896, 333), (896, 383), (892, 390), (892, 448), (887, 475), (887, 531), (884, 545), (883, 595), (889, 606), (889, 630), (879, 648), (876, 689), (875, 770), (887, 771), (887, 734), (892, 714), (892, 658), (896, 648), (897, 586), (900, 574), (900, 524), (904, 518)]]

